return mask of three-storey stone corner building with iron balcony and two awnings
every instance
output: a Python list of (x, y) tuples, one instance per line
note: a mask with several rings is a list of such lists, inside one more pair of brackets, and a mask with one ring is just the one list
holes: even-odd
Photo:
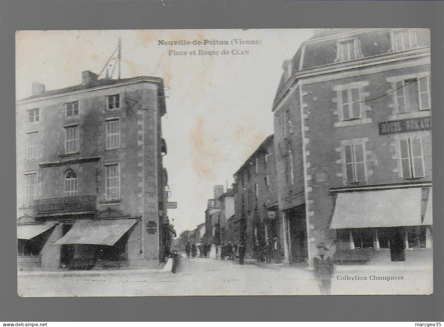
[(169, 246), (163, 80), (98, 79), (17, 102), (18, 266), (156, 266)]

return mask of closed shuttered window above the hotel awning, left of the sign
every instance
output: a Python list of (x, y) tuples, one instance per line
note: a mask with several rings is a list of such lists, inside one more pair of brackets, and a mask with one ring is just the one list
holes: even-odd
[(344, 145), (345, 177), (347, 183), (367, 180), (365, 174), (365, 150), (363, 143)]

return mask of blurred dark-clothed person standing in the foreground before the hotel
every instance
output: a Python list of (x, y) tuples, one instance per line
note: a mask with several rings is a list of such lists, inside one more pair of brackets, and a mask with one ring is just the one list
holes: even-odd
[(319, 255), (313, 259), (314, 276), (322, 295), (330, 295), (334, 271), (333, 254), (329, 252), (324, 242), (317, 244)]

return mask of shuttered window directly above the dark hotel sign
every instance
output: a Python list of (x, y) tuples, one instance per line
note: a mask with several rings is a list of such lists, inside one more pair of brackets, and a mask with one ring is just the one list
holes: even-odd
[(430, 110), (430, 76), (405, 79), (394, 83), (395, 101), (399, 114), (417, 110)]

